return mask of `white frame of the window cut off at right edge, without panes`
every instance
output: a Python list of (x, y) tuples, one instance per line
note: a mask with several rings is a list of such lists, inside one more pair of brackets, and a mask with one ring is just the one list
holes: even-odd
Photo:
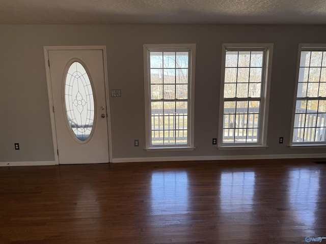
[[(302, 51), (326, 51), (326, 44), (315, 44), (315, 43), (300, 43), (298, 45), (298, 55), (297, 55), (297, 68), (296, 68), (296, 79), (295, 79), (295, 89), (294, 89), (294, 100), (293, 100), (293, 109), (292, 109), (292, 123), (291, 123), (291, 133), (290, 133), (290, 148), (297, 148), (302, 146), (324, 148), (326, 146), (326, 141), (302, 141), (302, 142), (293, 142), (293, 133), (294, 133), (294, 124), (295, 124), (295, 110), (297, 102), (297, 89), (299, 83), (299, 71), (300, 71), (300, 62), (301, 62), (301, 52)], [(310, 66), (309, 66), (310, 67)], [(319, 80), (320, 82), (320, 80)], [(306, 97), (308, 100), (320, 100), (325, 99), (326, 97)]]

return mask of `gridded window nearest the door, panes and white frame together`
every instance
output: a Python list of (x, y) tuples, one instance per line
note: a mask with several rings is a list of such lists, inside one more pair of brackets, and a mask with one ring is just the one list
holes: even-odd
[(144, 45), (146, 147), (193, 146), (195, 45)]

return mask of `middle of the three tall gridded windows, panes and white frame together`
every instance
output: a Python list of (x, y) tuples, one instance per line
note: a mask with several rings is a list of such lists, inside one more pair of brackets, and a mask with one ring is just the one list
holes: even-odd
[(220, 146), (265, 145), (272, 44), (223, 45)]

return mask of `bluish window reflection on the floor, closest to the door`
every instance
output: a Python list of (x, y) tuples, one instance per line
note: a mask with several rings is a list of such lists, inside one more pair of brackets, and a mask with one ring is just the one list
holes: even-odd
[(186, 172), (154, 172), (151, 180), (153, 214), (171, 215), (188, 210), (188, 177)]

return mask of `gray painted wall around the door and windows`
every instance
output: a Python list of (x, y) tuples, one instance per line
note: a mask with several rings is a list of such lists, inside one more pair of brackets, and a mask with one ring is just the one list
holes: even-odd
[[(69, 45), (107, 48), (109, 89), (122, 90), (121, 98), (110, 98), (114, 159), (324, 153), (287, 146), (298, 43), (326, 43), (324, 25), (0, 25), (0, 35), (0, 162), (54, 160), (43, 46)], [(143, 149), (143, 44), (157, 43), (197, 44), (194, 151)], [(267, 149), (211, 144), (218, 136), (222, 43), (274, 43)]]

